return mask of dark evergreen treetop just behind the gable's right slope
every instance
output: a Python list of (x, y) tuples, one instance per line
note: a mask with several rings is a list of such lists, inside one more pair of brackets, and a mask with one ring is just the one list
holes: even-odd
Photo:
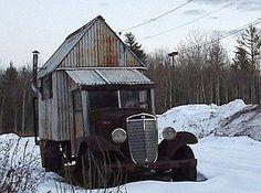
[(136, 42), (136, 37), (132, 32), (125, 34), (124, 42), (128, 45), (130, 51), (145, 64), (147, 55), (144, 53), (142, 44)]

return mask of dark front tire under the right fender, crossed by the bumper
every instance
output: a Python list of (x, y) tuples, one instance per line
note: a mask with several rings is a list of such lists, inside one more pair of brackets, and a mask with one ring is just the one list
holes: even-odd
[[(173, 160), (195, 159), (192, 150), (188, 146), (181, 147), (174, 156)], [(174, 181), (196, 181), (197, 168), (185, 167), (173, 170)]]

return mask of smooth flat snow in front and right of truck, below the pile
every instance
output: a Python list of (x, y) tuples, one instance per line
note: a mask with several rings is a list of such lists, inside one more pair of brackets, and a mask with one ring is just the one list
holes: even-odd
[(259, 193), (261, 143), (248, 137), (208, 137), (192, 146), (202, 182), (135, 182), (128, 192), (143, 193)]

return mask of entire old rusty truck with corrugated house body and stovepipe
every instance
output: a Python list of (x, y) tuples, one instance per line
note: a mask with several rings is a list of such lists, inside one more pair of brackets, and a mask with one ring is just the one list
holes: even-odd
[(46, 170), (71, 164), (93, 184), (102, 171), (107, 184), (119, 175), (196, 180), (188, 144), (197, 138), (166, 127), (158, 144), (155, 85), (102, 17), (70, 34), (40, 69), (38, 56), (33, 52), (34, 125)]

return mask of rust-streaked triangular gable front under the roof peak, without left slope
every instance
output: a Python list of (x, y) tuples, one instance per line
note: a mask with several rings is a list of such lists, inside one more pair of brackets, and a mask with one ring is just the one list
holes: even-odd
[(140, 66), (137, 57), (112, 29), (97, 20), (59, 67), (121, 67)]

